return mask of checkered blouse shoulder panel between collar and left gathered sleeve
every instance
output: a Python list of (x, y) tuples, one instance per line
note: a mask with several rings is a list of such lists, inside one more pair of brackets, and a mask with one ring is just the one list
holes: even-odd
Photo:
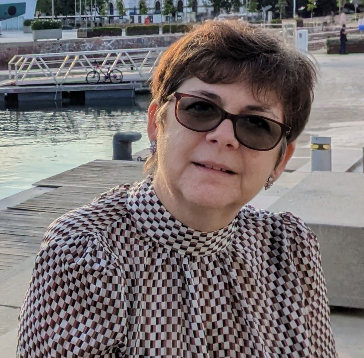
[(115, 186), (98, 195), (89, 204), (74, 209), (54, 220), (47, 228), (42, 246), (52, 240), (93, 236), (126, 215), (126, 193), (130, 184)]

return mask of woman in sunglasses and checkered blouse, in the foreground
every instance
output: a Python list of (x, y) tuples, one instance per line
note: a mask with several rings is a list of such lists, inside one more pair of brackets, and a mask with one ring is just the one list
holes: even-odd
[(47, 229), (19, 357), (336, 357), (314, 233), (249, 205), (294, 151), (316, 74), (237, 22), (154, 73), (150, 174)]

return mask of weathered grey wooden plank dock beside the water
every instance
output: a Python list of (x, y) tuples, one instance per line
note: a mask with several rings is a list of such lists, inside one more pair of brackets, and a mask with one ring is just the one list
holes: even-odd
[(143, 162), (94, 160), (33, 184), (55, 189), (0, 211), (0, 274), (39, 251), (53, 220), (145, 176)]

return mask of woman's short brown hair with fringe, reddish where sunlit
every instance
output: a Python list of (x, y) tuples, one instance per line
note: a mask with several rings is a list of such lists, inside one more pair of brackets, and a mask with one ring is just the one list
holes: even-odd
[(287, 142), (304, 129), (313, 101), (316, 68), (277, 37), (239, 21), (207, 21), (171, 44), (153, 74), (151, 94), (162, 106), (183, 80), (248, 83), (254, 95), (274, 93), (291, 127)]

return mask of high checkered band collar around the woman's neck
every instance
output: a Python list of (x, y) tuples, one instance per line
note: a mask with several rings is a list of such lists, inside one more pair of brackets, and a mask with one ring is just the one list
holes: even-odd
[(225, 228), (202, 232), (187, 227), (175, 219), (159, 201), (153, 188), (153, 177), (135, 183), (126, 197), (126, 207), (147, 236), (181, 255), (210, 255), (232, 241), (237, 230), (237, 219)]

